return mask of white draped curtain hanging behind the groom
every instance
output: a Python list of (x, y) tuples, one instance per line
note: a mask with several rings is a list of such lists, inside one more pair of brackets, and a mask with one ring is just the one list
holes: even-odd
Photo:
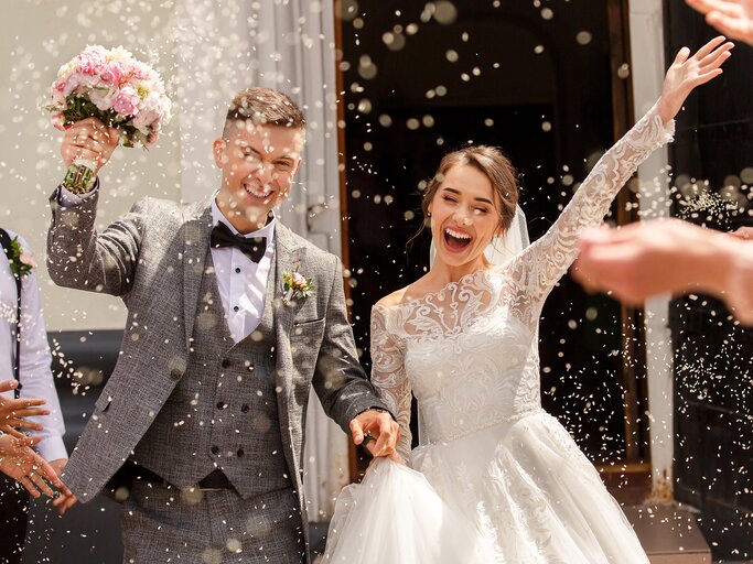
[[(299, 235), (341, 253), (334, 15), (330, 0), (178, 0), (178, 112), (181, 194), (205, 198), (218, 185), (212, 141), (236, 91), (266, 86), (288, 94), (306, 117), (297, 186), (278, 217)], [(331, 516), (348, 481), (347, 440), (312, 394), (304, 489), (309, 516)]]

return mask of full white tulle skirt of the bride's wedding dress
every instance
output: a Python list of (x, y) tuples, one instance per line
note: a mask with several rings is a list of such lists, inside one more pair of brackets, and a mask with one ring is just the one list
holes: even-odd
[(648, 563), (599, 473), (544, 412), (419, 446), (410, 463), (378, 460), (343, 491), (329, 562)]

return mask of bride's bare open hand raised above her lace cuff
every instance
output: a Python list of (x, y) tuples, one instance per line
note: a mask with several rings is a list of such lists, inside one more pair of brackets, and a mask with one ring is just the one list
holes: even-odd
[(734, 46), (719, 35), (690, 56), (690, 50), (682, 47), (664, 77), (661, 97), (658, 101), (659, 116), (665, 123), (677, 116), (685, 99), (693, 88), (722, 74), (721, 66), (730, 57)]

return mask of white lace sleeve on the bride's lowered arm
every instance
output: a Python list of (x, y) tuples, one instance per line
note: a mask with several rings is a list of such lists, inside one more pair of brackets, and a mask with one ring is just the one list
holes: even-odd
[(406, 375), (404, 343), (387, 329), (387, 313), (372, 308), (372, 383), (400, 425), (397, 451), (408, 460), (410, 455), (410, 381)]

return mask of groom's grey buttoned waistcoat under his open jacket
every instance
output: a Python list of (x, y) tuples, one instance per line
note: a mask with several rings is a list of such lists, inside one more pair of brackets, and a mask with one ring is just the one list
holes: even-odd
[[(180, 488), (215, 468), (244, 498), (292, 488), (277, 412), (272, 304), (267, 299), (259, 326), (234, 344), (209, 250), (205, 264), (186, 371), (131, 459)], [(275, 279), (272, 268), (268, 297)]]

